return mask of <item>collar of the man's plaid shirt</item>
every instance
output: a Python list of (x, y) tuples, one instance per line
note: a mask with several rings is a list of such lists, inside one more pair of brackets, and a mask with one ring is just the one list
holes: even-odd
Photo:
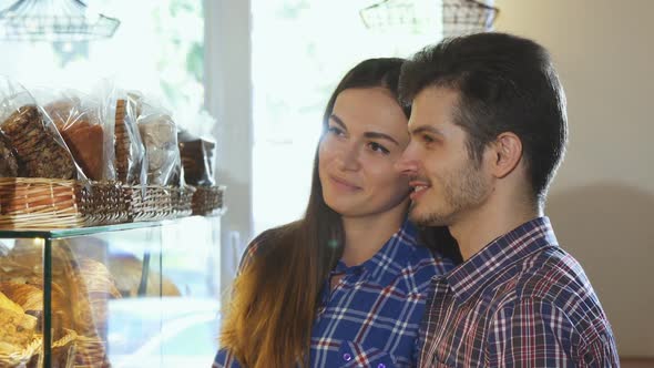
[(494, 239), (459, 265), (446, 279), (460, 303), (466, 303), (507, 267), (559, 242), (548, 217), (538, 217)]

